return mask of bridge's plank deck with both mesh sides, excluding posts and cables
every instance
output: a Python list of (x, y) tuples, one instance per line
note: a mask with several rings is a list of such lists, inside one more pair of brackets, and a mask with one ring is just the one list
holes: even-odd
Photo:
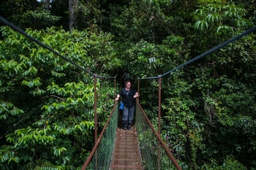
[(123, 130), (117, 102), (84, 169), (181, 169), (146, 116), (138, 99), (135, 124)]

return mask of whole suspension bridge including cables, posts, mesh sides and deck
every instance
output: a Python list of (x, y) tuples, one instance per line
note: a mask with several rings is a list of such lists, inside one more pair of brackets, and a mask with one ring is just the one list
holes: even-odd
[[(10, 28), (18, 31), (23, 36), (26, 36), (31, 41), (37, 43), (38, 45), (48, 49), (50, 52), (53, 52), (55, 55), (63, 58), (65, 61), (72, 63), (83, 71), (91, 74), (94, 77), (94, 109), (95, 109), (95, 144), (89, 157), (86, 162), (83, 164), (82, 170), (85, 169), (110, 169), (110, 170), (129, 170), (129, 169), (181, 169), (181, 166), (178, 165), (178, 161), (173, 157), (168, 148), (161, 139), (160, 136), (160, 121), (158, 123), (158, 131), (155, 130), (154, 125), (151, 124), (151, 121), (146, 116), (143, 108), (140, 106), (140, 102), (137, 99), (136, 108), (135, 108), (135, 123), (132, 125), (131, 130), (123, 130), (120, 128), (118, 103), (117, 101), (113, 104), (113, 109), (110, 113), (108, 121), (105, 123), (105, 126), (99, 134), (97, 135), (97, 88), (96, 82), (98, 76), (89, 72), (89, 70), (84, 69), (82, 66), (79, 66), (77, 63), (70, 61), (68, 58), (65, 58), (63, 55), (59, 54), (52, 48), (47, 45), (42, 44), (37, 39), (34, 39), (29, 34), (26, 34), (23, 30), (13, 25), (9, 21), (0, 17), (0, 22), (5, 26), (10, 26)], [(158, 77), (146, 77), (138, 78), (142, 79), (158, 79), (159, 80), (159, 115), (160, 119), (160, 110), (161, 110), (161, 78), (171, 72), (180, 69), (181, 67), (187, 66), (188, 64), (199, 60), (200, 58), (205, 57), (213, 53), (216, 50), (224, 47), (230, 42), (234, 42), (241, 37), (246, 36), (247, 34), (256, 31), (255, 28), (251, 28), (248, 31), (245, 31), (243, 34), (240, 34), (233, 39), (230, 39), (217, 47), (208, 50), (202, 55), (198, 55), (196, 58), (193, 58), (190, 61), (187, 61), (180, 66), (177, 66), (175, 69), (166, 72), (165, 74), (159, 75)], [(105, 77), (113, 78), (116, 81), (116, 77)]]

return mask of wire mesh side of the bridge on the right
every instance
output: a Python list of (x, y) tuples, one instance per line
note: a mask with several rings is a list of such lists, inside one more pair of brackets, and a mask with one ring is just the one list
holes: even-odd
[(181, 169), (138, 102), (135, 119), (144, 169)]

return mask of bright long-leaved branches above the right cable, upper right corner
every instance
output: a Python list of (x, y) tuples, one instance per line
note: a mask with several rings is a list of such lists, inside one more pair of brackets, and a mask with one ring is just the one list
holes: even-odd
[(246, 9), (233, 1), (199, 1), (192, 19), (195, 20), (193, 28), (200, 34), (195, 37), (196, 42), (192, 43), (198, 49), (207, 44), (203, 53), (227, 41), (237, 35), (236, 31), (240, 32), (253, 26), (250, 20), (244, 18), (245, 15)]

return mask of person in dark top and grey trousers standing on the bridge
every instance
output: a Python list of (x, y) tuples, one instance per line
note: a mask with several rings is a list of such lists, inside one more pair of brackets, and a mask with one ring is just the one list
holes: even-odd
[(130, 130), (133, 120), (133, 115), (135, 112), (135, 98), (139, 96), (139, 93), (132, 88), (132, 83), (130, 81), (125, 82), (125, 88), (122, 88), (116, 96), (116, 101), (122, 98), (124, 103), (122, 122), (124, 125), (124, 130)]

